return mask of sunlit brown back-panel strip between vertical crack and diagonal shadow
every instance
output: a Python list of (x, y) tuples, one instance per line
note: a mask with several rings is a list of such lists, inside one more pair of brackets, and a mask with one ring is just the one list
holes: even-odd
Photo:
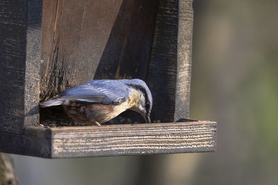
[[(76, 51), (79, 65), (74, 72), (80, 77), (77, 83), (94, 78), (121, 7), (122, 0), (86, 1), (79, 49)], [(113, 56), (113, 53), (109, 55)], [(101, 72), (109, 73), (105, 70)]]

